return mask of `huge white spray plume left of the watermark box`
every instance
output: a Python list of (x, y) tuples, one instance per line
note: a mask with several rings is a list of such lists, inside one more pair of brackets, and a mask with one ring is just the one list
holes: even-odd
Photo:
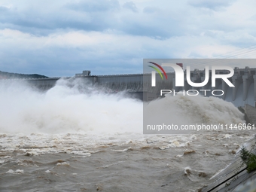
[[(41, 93), (26, 84), (1, 84), (0, 132), (138, 132), (142, 102), (96, 91), (84, 93), (80, 81), (60, 80)], [(142, 130), (140, 130), (142, 132)]]

